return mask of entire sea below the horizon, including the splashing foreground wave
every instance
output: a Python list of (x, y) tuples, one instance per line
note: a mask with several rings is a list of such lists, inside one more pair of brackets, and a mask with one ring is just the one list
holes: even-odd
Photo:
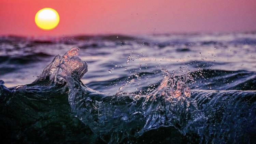
[(256, 33), (1, 37), (0, 139), (254, 143), (255, 54)]

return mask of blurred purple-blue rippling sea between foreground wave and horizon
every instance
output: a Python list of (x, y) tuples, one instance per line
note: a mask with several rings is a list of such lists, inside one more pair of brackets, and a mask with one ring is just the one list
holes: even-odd
[(255, 90), (256, 33), (172, 33), (0, 38), (0, 79), (7, 87), (33, 82), (57, 54), (79, 47), (88, 63), (82, 82), (110, 94), (162, 79), (162, 68), (192, 74), (192, 89)]

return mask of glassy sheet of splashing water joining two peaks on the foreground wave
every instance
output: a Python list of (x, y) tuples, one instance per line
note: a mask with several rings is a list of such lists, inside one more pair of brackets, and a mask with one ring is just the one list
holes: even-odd
[[(189, 100), (189, 88), (184, 82), (175, 80), (166, 69), (163, 70), (166, 76), (160, 85), (146, 96), (120, 92), (125, 85), (119, 88), (116, 95), (89, 89), (80, 81), (87, 72), (87, 65), (77, 57), (78, 53), (78, 48), (71, 49), (53, 61), (59, 61), (57, 67), (54, 65), (48, 69), (58, 71), (57, 68), (61, 68), (58, 76), (68, 84), (72, 111), (105, 142), (121, 142), (126, 137), (140, 136), (161, 126), (174, 126), (185, 134), (191, 125), (189, 121), (203, 118), (196, 104)], [(132, 82), (135, 82), (134, 79), (128, 83)], [(179, 119), (181, 116), (182, 120)]]

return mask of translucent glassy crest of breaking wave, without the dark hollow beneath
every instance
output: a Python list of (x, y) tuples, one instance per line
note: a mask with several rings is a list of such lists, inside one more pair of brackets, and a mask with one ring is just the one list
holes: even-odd
[(57, 55), (32, 84), (6, 88), (0, 81), (0, 98), (6, 103), (10, 95), (44, 100), (45, 92), (56, 97), (68, 90), (72, 112), (107, 143), (170, 126), (198, 143), (248, 143), (255, 137), (255, 91), (190, 90), (189, 75), (162, 69), (163, 80), (146, 95), (120, 93), (122, 88), (118, 95), (107, 95), (81, 82), (87, 63), (78, 54), (79, 48), (73, 48)]

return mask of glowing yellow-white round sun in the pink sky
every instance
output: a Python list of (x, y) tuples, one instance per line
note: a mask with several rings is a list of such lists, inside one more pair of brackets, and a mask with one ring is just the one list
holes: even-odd
[(35, 14), (35, 24), (43, 30), (54, 29), (59, 24), (59, 14), (52, 8), (44, 8)]

